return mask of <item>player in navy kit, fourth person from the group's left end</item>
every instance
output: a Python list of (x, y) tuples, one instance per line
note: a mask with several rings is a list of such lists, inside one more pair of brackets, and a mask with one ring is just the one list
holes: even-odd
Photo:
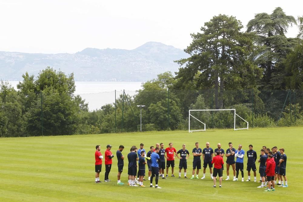
[(130, 153), (127, 155), (128, 158), (128, 184), (129, 186), (138, 187), (135, 184), (135, 177), (137, 175), (137, 161), (139, 160), (137, 151), (138, 148), (132, 146)]

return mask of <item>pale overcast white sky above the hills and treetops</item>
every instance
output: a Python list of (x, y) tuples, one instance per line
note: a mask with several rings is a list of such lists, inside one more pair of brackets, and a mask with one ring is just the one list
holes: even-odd
[[(1, 0), (0, 51), (132, 50), (148, 41), (184, 49), (192, 41), (190, 33), (213, 16), (232, 15), (246, 27), (255, 14), (271, 14), (276, 7), (295, 18), (303, 15), (300, 0)], [(286, 36), (297, 34), (294, 25)]]

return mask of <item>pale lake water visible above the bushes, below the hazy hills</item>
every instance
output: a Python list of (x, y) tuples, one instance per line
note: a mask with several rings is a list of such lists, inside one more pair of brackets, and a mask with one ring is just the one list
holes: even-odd
[[(17, 89), (19, 81), (8, 81), (12, 87)], [(100, 109), (103, 105), (108, 103), (115, 103), (116, 98), (123, 94), (130, 96), (135, 95), (135, 91), (142, 89), (142, 82), (118, 82), (118, 81), (75, 81), (76, 91), (75, 95), (80, 95), (85, 102), (88, 102), (90, 111)]]

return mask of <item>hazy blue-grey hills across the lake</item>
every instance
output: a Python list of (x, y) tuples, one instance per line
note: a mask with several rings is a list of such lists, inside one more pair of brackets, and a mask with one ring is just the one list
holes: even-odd
[(75, 54), (41, 54), (0, 51), (0, 80), (22, 80), (50, 66), (76, 81), (147, 81), (165, 71), (178, 71), (174, 60), (187, 58), (181, 49), (147, 42), (133, 50), (85, 48)]

